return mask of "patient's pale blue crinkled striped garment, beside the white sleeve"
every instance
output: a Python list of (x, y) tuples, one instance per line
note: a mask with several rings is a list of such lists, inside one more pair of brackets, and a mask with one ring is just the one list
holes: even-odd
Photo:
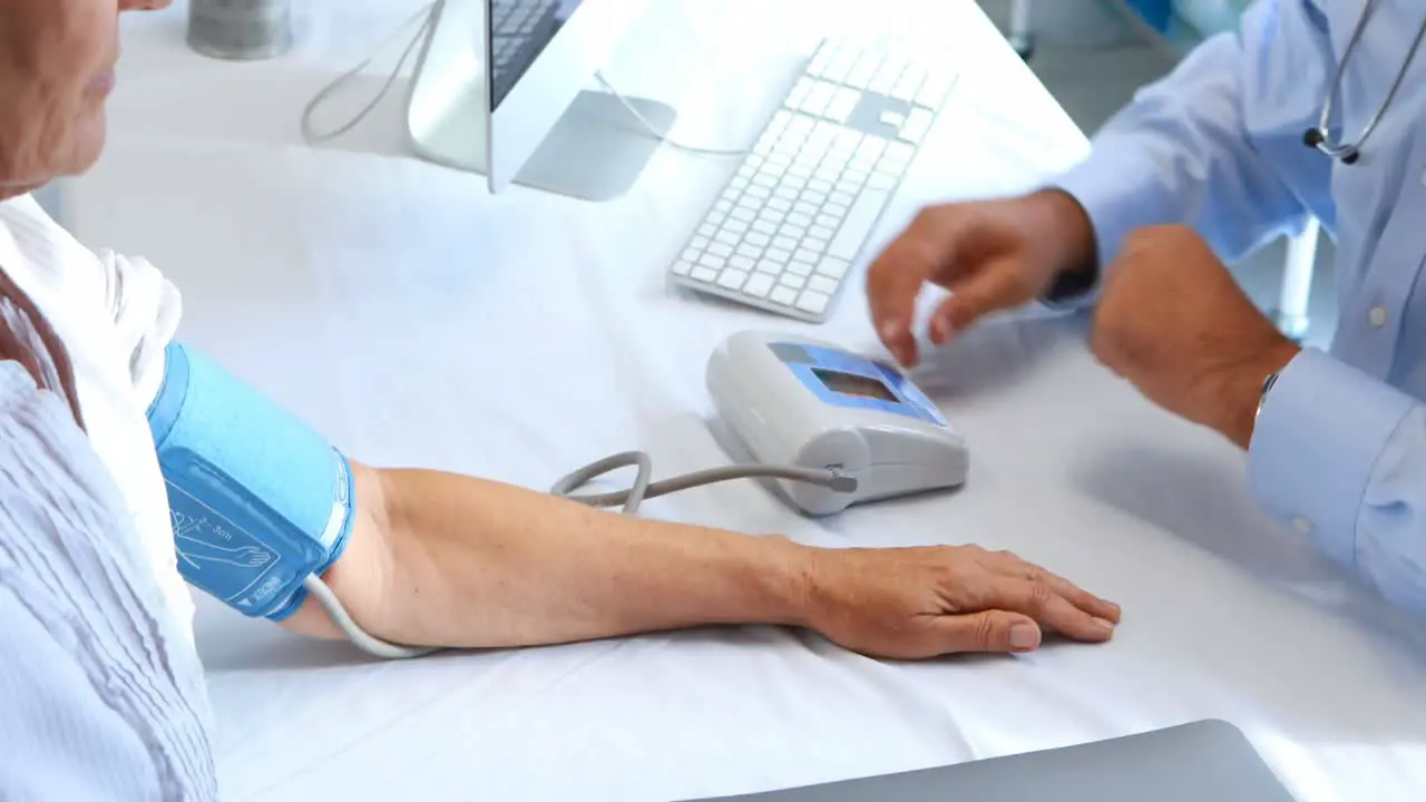
[(0, 799), (217, 799), (202, 668), (68, 405), (0, 362)]

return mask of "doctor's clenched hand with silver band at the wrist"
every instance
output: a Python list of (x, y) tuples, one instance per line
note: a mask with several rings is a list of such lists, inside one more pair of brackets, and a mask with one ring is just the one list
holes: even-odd
[(1149, 401), (1242, 448), (1252, 440), (1263, 380), (1299, 351), (1182, 225), (1125, 238), (1105, 270), (1089, 344)]

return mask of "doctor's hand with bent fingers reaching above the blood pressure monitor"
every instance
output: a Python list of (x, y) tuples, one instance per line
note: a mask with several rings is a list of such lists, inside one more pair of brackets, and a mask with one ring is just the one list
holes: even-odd
[(1095, 258), (1088, 215), (1058, 190), (930, 207), (868, 268), (871, 318), (881, 342), (911, 367), (924, 284), (951, 291), (930, 323), (931, 341), (943, 345), (990, 313), (1044, 297), (1060, 275), (1092, 270)]

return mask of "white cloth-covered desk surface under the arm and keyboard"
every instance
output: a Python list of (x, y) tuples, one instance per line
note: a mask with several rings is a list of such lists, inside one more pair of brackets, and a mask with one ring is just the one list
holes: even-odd
[[(307, 98), (416, 6), (311, 4), (302, 49), (261, 64), (190, 54), (181, 4), (131, 16), (111, 147), (70, 184), (68, 223), (160, 264), (185, 291), (183, 337), (378, 464), (539, 488), (632, 447), (659, 475), (714, 465), (702, 377), (726, 334), (874, 347), (857, 288), (823, 327), (665, 290), (730, 160), (663, 148), (632, 194), (590, 205), (391, 157), (396, 100), (349, 141), (302, 146)], [(970, 0), (656, 6), (607, 74), (677, 106), (694, 144), (750, 141), (823, 33), (918, 30), (960, 66), (881, 238), (923, 203), (1024, 190), (1085, 151)], [(963, 492), (811, 522), (730, 484), (647, 514), (1010, 548), (1119, 601), (1112, 644), (913, 665), (749, 628), (366, 662), (201, 601), (225, 796), (679, 799), (1216, 716), (1303, 802), (1426, 798), (1426, 628), (1266, 524), (1239, 454), (1095, 367), (1067, 321), (994, 325), (935, 362), (923, 387), (974, 450)]]

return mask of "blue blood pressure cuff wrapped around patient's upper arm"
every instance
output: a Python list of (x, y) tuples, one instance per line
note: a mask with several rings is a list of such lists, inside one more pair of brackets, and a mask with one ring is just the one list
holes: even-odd
[(148, 428), (178, 572), (244, 615), (282, 621), (347, 547), (351, 464), (324, 437), (174, 342)]

